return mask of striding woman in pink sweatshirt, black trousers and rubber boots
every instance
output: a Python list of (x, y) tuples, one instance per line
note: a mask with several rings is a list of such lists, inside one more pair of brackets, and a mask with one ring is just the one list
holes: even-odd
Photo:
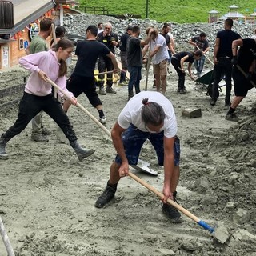
[[(7, 159), (6, 143), (11, 138), (22, 132), (32, 118), (40, 111), (46, 112), (60, 126), (70, 145), (78, 155), (79, 161), (90, 156), (94, 150), (83, 149), (74, 133), (73, 126), (67, 117), (62, 105), (52, 93), (52, 86), (46, 78), (58, 84), (62, 90), (72, 97), (71, 103), (76, 105), (77, 99), (66, 89), (66, 59), (73, 51), (73, 43), (67, 39), (62, 39), (56, 45), (55, 50), (43, 51), (37, 54), (30, 54), (19, 60), (19, 63), (26, 70), (31, 72), (30, 78), (25, 86), (25, 91), (19, 104), (18, 118), (13, 126), (0, 138), (0, 159)], [(58, 92), (60, 96), (63, 95)]]

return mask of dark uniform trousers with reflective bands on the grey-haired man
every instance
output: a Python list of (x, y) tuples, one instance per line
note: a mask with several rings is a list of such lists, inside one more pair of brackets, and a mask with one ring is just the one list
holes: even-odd
[[(111, 61), (111, 58), (109, 57), (100, 57), (98, 61), (98, 73), (102, 73), (107, 71), (112, 71), (114, 69), (113, 63)], [(104, 74), (100, 74), (98, 76), (98, 85), (104, 86)], [(113, 85), (113, 74), (106, 74), (106, 85), (112, 86)]]

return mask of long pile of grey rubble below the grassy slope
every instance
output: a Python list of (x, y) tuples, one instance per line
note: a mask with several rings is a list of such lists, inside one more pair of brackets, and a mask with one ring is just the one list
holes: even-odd
[[(157, 22), (150, 19), (137, 19), (128, 18), (126, 20), (103, 16), (94, 14), (66, 14), (64, 17), (64, 26), (66, 27), (67, 34), (77, 34), (79, 37), (85, 36), (86, 27), (89, 25), (97, 25), (98, 22), (111, 22), (113, 24), (113, 30), (121, 36), (125, 31), (127, 26), (138, 25), (141, 27), (142, 34), (148, 26), (155, 26), (161, 29), (162, 22)], [(223, 22), (216, 23), (185, 23), (178, 24), (170, 22), (172, 24), (172, 33), (177, 44), (182, 44), (187, 42), (190, 38), (195, 35), (200, 34), (200, 32), (205, 32), (210, 45), (214, 45), (216, 33), (218, 30), (223, 29)], [(242, 24), (240, 22), (234, 22), (234, 31), (238, 32), (242, 38), (250, 38), (254, 34), (254, 26), (250, 24)]]

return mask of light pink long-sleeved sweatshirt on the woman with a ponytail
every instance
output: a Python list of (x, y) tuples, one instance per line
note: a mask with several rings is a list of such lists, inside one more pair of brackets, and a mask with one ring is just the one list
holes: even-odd
[[(26, 93), (37, 96), (46, 96), (52, 92), (52, 86), (50, 83), (45, 82), (38, 77), (38, 72), (42, 70), (47, 74), (50, 80), (55, 82), (60, 88), (62, 88), (62, 90), (65, 90), (70, 97), (73, 96), (73, 94), (66, 89), (66, 77), (58, 77), (60, 64), (58, 63), (58, 58), (55, 51), (49, 50), (27, 55), (20, 58), (19, 63), (22, 65), (22, 67), (31, 72), (25, 86)], [(63, 96), (63, 94), (59, 91), (58, 94), (61, 97)]]

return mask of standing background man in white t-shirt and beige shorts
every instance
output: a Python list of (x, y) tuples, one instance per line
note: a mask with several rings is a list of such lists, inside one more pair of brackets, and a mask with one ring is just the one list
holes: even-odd
[[(166, 45), (166, 38), (158, 34), (157, 30), (151, 33), (150, 58), (152, 58), (153, 72), (157, 91), (160, 91), (162, 85), (162, 94), (166, 93), (166, 75), (169, 54)], [(160, 82), (161, 80), (161, 82)]]

